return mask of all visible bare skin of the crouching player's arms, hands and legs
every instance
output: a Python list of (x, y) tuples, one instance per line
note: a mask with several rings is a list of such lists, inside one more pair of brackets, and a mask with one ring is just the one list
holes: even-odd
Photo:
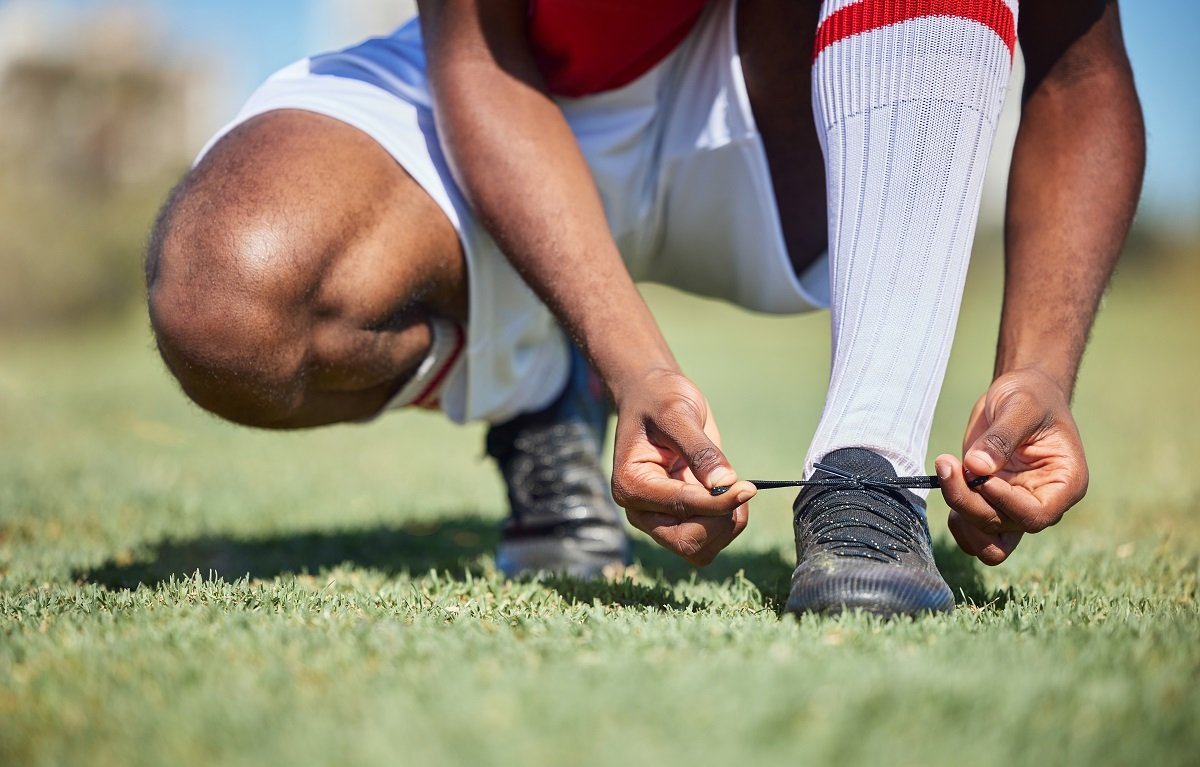
[[(738, 18), (797, 269), (826, 240), (808, 107), (818, 10), (743, 0)], [(707, 400), (620, 260), (524, 12), (523, 0), (422, 4), (442, 140), (480, 220), (613, 396), (613, 495), (630, 522), (707, 564), (744, 529), (755, 489), (737, 481)], [(955, 539), (989, 564), (1086, 490), (1069, 397), (1144, 154), (1115, 4), (1027, 1), (1020, 24), (1031, 77), (997, 378), (968, 420), (965, 459), (936, 460)], [(158, 343), (185, 390), (258, 426), (374, 414), (422, 359), (428, 317), (466, 313), (462, 252), (433, 202), (370, 139), (307, 113), (269, 114), (222, 140), (168, 206), (149, 266)], [(971, 474), (996, 478), (971, 489)], [(713, 497), (716, 485), (732, 490)]]

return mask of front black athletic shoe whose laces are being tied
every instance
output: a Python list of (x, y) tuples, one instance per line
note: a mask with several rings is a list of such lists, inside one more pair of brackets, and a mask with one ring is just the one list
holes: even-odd
[(892, 463), (862, 448), (835, 450), (796, 499), (796, 573), (788, 612), (864, 610), (880, 616), (950, 612), (954, 594), (934, 563), (925, 504), (872, 479)]

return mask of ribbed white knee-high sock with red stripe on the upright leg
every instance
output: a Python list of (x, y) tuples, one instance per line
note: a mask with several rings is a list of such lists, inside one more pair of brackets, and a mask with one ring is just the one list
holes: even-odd
[(833, 367), (806, 468), (860, 447), (923, 474), (1012, 70), (1016, 0), (826, 0)]

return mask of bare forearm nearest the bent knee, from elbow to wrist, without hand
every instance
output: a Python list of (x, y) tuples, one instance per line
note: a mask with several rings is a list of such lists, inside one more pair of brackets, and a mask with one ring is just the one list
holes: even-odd
[[(427, 23), (438, 24), (437, 14)], [(469, 40), (431, 44), (428, 53), (438, 130), (455, 179), (614, 396), (649, 371), (677, 370), (532, 58)]]

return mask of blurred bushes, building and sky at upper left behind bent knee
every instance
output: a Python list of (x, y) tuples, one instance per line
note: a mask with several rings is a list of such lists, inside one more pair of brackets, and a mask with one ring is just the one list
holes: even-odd
[(271, 71), (406, 0), (0, 0), (0, 332), (126, 314), (155, 211)]

